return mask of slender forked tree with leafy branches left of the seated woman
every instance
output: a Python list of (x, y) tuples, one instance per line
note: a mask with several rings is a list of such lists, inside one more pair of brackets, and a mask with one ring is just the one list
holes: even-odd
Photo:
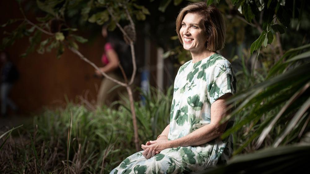
[[(133, 83), (135, 74), (136, 74), (136, 63), (135, 63), (135, 23), (132, 20), (132, 15), (135, 15), (137, 20), (144, 20), (145, 15), (149, 14), (148, 10), (144, 6), (139, 6), (138, 4), (130, 1), (119, 0), (119, 1), (68, 1), (68, 0), (37, 0), (37, 6), (39, 9), (46, 13), (45, 17), (37, 18), (38, 23), (33, 23), (28, 20), (26, 17), (21, 1), (17, 1), (20, 6), (20, 11), (23, 14), (22, 19), (10, 19), (6, 24), (3, 24), (2, 27), (5, 27), (9, 24), (18, 22), (19, 26), (13, 30), (9, 36), (5, 37), (2, 41), (1, 50), (5, 47), (12, 45), (16, 39), (21, 37), (29, 37), (30, 45), (26, 50), (26, 53), (22, 56), (27, 56), (30, 52), (35, 50), (36, 46), (39, 44), (38, 53), (43, 54), (46, 51), (51, 51), (51, 49), (57, 49), (57, 57), (59, 58), (64, 53), (64, 47), (67, 47), (73, 53), (77, 54), (80, 59), (84, 60), (86, 63), (89, 63), (96, 70), (100, 69), (87, 59), (81, 52), (78, 51), (78, 44), (85, 43), (87, 39), (71, 34), (72, 32), (77, 31), (76, 28), (70, 28), (66, 22), (65, 18), (67, 13), (70, 10), (73, 10), (76, 7), (81, 7), (84, 5), (81, 10), (82, 20), (89, 21), (91, 23), (96, 23), (102, 25), (106, 22), (109, 22), (109, 29), (114, 30), (116, 27), (121, 30), (124, 35), (124, 39), (131, 46), (132, 54), (132, 63), (133, 63), (133, 73), (128, 80), (122, 66), (119, 64), (119, 67), (124, 76), (125, 82), (121, 82), (113, 79), (108, 76), (106, 73), (101, 72), (102, 75), (119, 85), (126, 87), (129, 94), (131, 115), (134, 128), (134, 137), (135, 137), (135, 146), (136, 150), (140, 149), (139, 147), (139, 137), (138, 137), (138, 127), (136, 123), (135, 109), (134, 109), (134, 99), (130, 85)], [(95, 12), (94, 12), (95, 11)], [(94, 14), (89, 17), (89, 14), (93, 12)], [(111, 19), (110, 19), (111, 18)], [(120, 20), (129, 21), (129, 24), (125, 27), (119, 24)], [(29, 28), (30, 26), (30, 28)], [(33, 35), (31, 35), (33, 33)], [(41, 41), (41, 35), (46, 34), (49, 37)]]

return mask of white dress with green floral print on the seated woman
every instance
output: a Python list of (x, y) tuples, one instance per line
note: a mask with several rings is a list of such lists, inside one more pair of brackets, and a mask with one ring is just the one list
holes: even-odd
[[(168, 139), (184, 137), (210, 124), (211, 104), (226, 93), (234, 94), (235, 90), (232, 66), (220, 54), (182, 65), (175, 77)], [(227, 128), (232, 124), (230, 120)], [(145, 159), (142, 152), (127, 157), (111, 174), (201, 172), (230, 157), (232, 136), (224, 140), (218, 137), (200, 146), (165, 149), (150, 159)]]

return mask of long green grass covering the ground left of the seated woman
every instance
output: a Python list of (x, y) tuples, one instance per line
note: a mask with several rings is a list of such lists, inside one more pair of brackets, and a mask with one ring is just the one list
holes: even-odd
[[(167, 126), (172, 90), (171, 87), (163, 94), (152, 89), (143, 94), (144, 105), (135, 103), (141, 144), (156, 139)], [(130, 113), (124, 105), (117, 110), (104, 107), (90, 111), (82, 105), (68, 103), (64, 109), (47, 109), (34, 117), (32, 126), (21, 130), (20, 138), (9, 139), (0, 150), (0, 172), (35, 173), (38, 166), (45, 173), (60, 173), (67, 162), (71, 173), (110, 172), (125, 157), (135, 153)], [(67, 149), (69, 135), (70, 150)], [(8, 154), (10, 150), (15, 154)]]

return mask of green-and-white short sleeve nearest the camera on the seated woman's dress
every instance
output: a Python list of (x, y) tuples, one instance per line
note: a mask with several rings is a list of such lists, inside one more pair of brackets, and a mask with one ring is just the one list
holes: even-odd
[(222, 63), (214, 67), (207, 85), (210, 105), (224, 94), (236, 92), (236, 77), (231, 64)]

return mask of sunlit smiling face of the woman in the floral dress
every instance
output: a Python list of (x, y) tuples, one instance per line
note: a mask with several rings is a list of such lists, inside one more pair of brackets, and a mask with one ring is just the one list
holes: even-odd
[(202, 18), (203, 16), (197, 13), (188, 13), (184, 16), (180, 35), (185, 50), (200, 52), (206, 49), (205, 43), (208, 37)]

